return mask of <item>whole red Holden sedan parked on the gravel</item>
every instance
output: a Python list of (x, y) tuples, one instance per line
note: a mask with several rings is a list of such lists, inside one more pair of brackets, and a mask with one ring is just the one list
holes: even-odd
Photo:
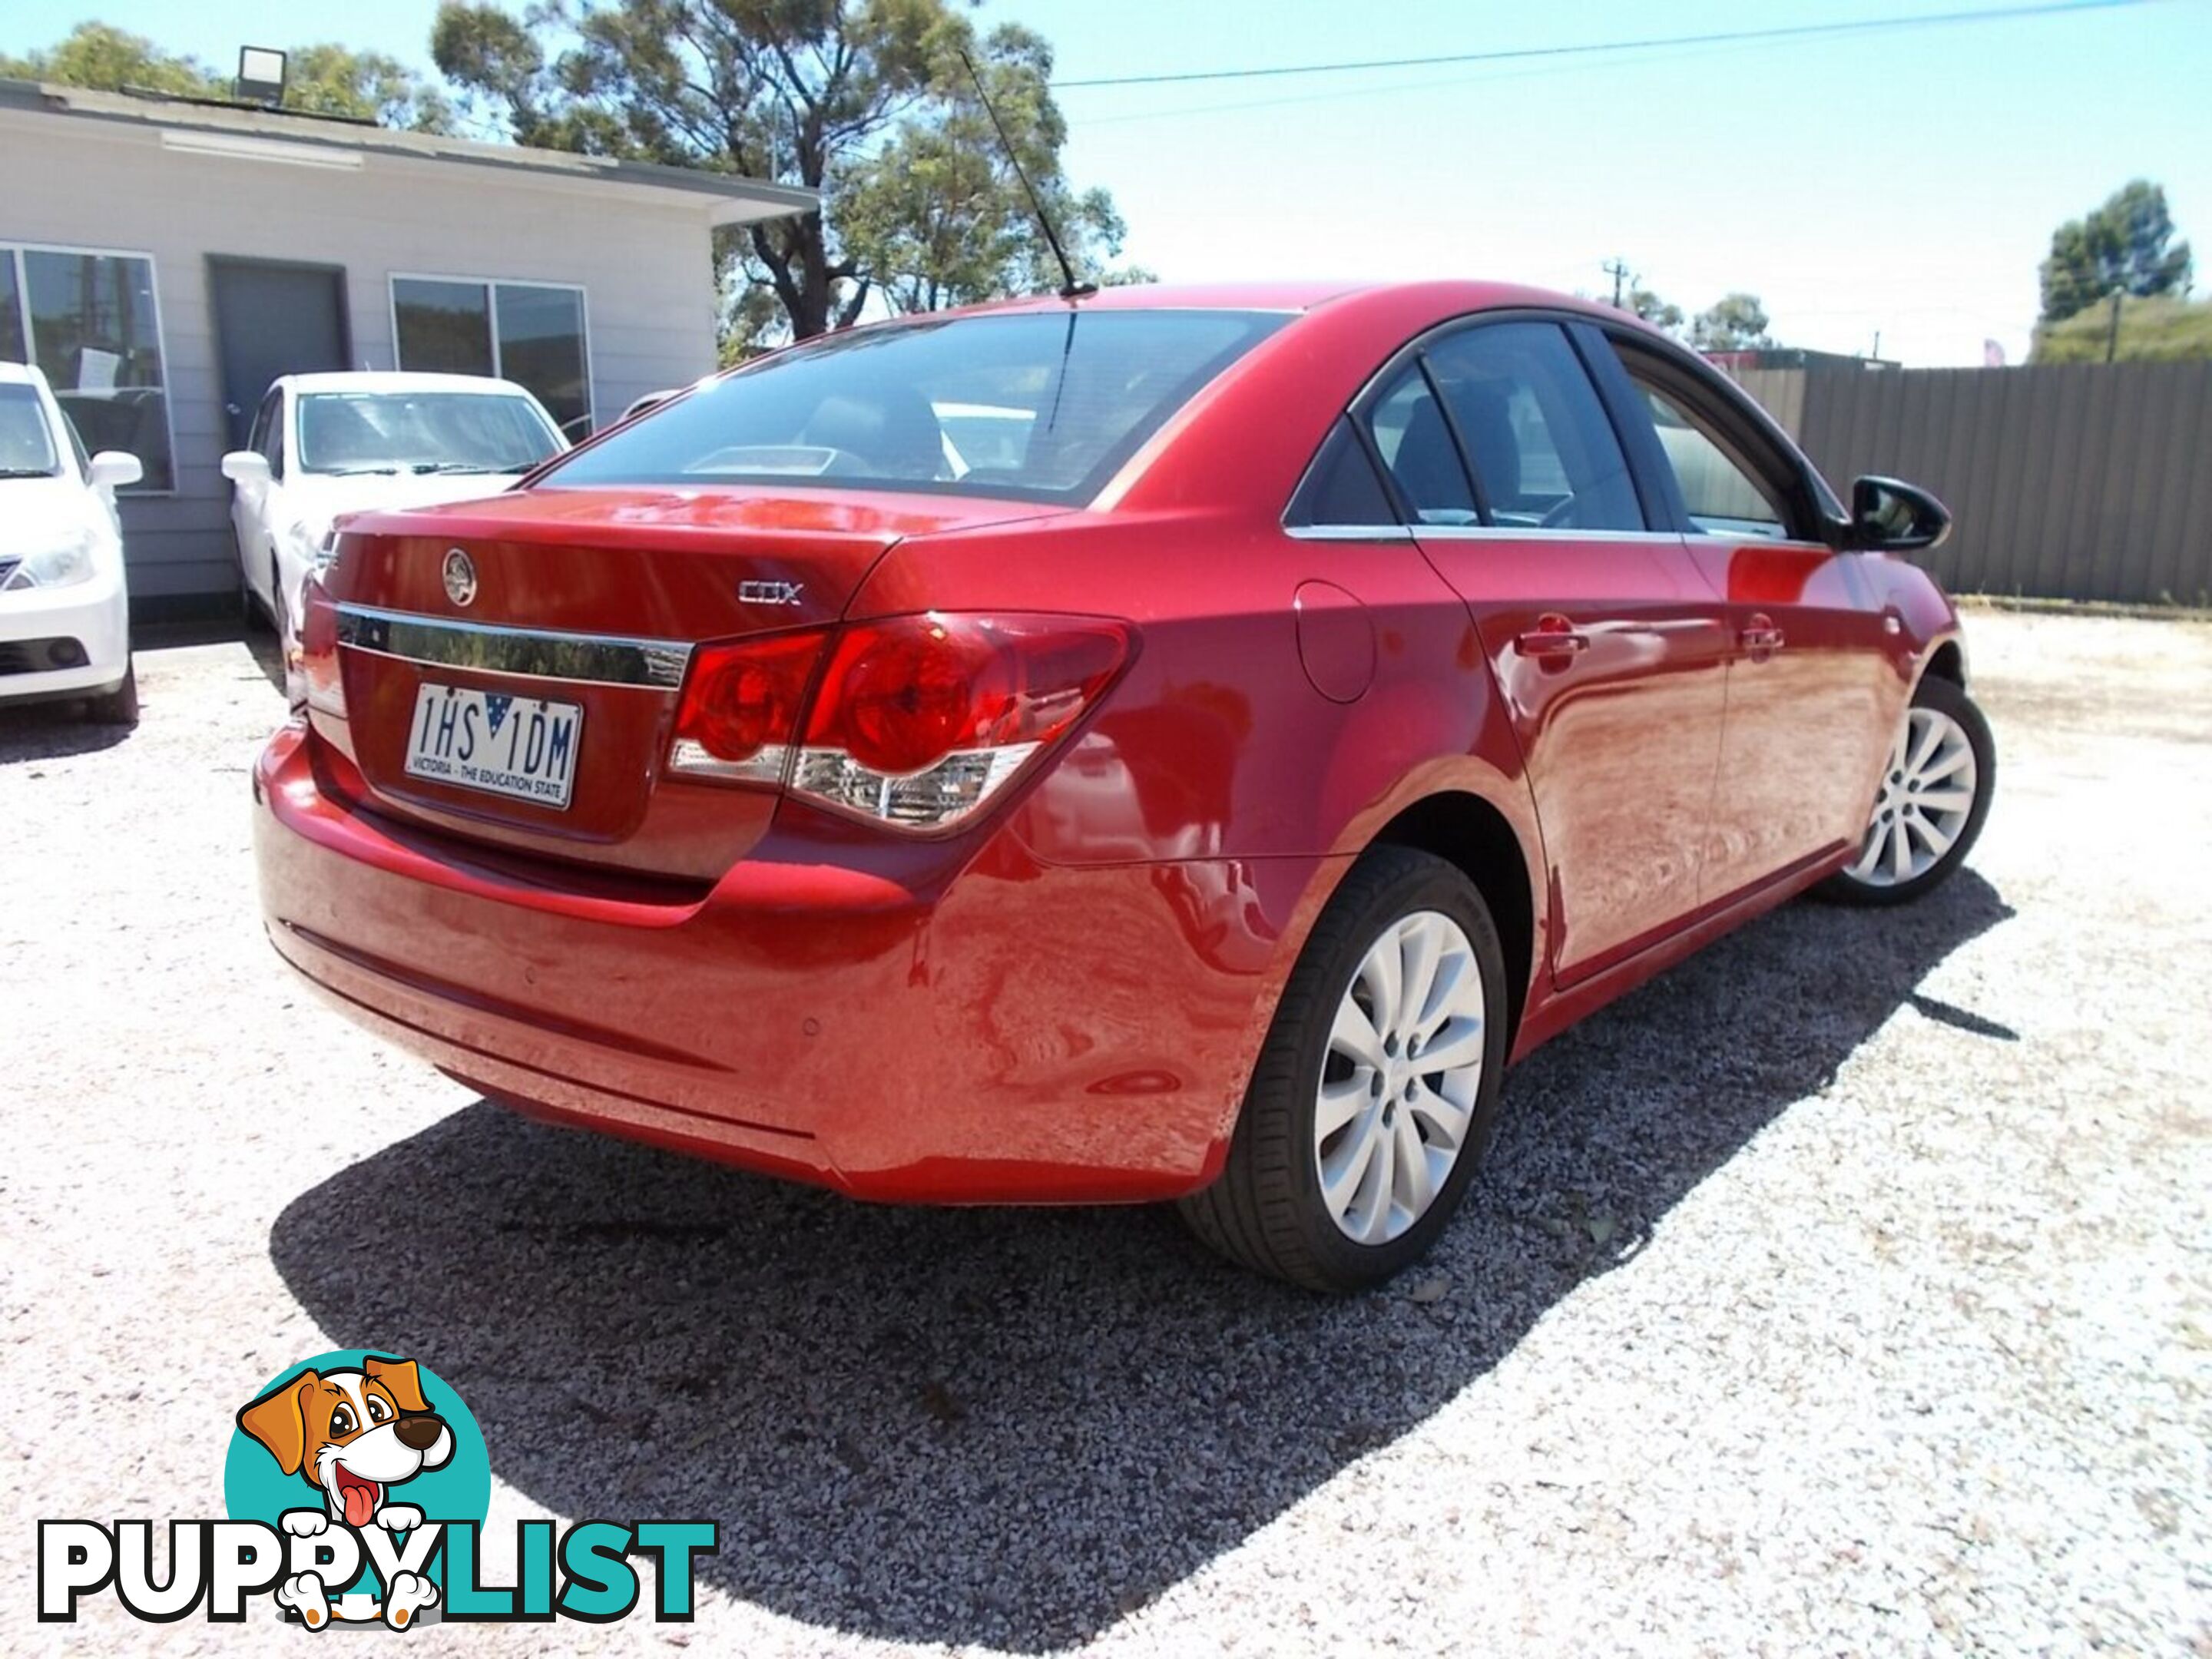
[(1732, 383), (1520, 288), (856, 330), (354, 520), (276, 949), (491, 1099), (867, 1199), (1181, 1199), (1347, 1290), (1511, 1060), (1995, 774), (1958, 617)]

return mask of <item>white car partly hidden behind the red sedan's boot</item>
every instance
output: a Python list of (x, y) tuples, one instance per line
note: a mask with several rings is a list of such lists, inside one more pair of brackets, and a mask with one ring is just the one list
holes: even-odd
[(330, 522), (507, 489), (568, 447), (513, 380), (473, 374), (288, 374), (246, 449), (223, 456), (248, 613), (290, 644)]

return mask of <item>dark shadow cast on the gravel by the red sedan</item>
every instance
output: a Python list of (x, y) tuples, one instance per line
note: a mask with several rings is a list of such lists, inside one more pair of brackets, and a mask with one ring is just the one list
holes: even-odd
[(869, 1208), (489, 1104), (299, 1197), (272, 1256), (553, 1511), (714, 1517), (703, 1577), (816, 1626), (1044, 1650), (1438, 1411), (2008, 916), (1969, 872), (1714, 945), (1517, 1068), (1433, 1265), (1349, 1301), (1166, 1208)]

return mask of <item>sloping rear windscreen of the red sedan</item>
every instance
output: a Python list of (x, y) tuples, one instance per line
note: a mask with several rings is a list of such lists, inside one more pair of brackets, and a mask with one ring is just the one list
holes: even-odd
[(832, 334), (653, 409), (542, 484), (1088, 500), (1276, 312), (956, 316)]

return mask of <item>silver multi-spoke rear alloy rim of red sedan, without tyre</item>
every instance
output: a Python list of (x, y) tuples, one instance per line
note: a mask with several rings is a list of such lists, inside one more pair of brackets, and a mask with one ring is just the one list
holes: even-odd
[(1336, 1006), (1314, 1102), (1314, 1168), (1336, 1228), (1363, 1245), (1427, 1214), (1467, 1146), (1482, 1086), (1482, 969), (1440, 911), (1402, 916)]

